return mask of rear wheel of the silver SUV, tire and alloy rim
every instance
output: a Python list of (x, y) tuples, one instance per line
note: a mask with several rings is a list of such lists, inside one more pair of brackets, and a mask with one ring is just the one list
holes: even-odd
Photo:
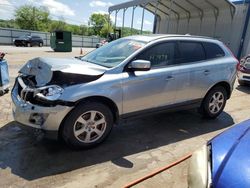
[(201, 114), (209, 119), (215, 119), (224, 110), (227, 101), (227, 92), (224, 87), (212, 88), (200, 107)]

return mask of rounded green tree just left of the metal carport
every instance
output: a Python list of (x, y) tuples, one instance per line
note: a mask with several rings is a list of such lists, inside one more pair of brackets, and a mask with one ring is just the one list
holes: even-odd
[[(105, 24), (106, 26), (108, 24), (111, 25), (111, 21), (109, 19), (108, 14), (94, 13), (90, 16), (89, 21), (90, 21), (90, 24), (92, 25), (95, 35), (101, 35), (101, 30), (105, 26)], [(103, 31), (102, 33), (105, 33), (105, 32)]]

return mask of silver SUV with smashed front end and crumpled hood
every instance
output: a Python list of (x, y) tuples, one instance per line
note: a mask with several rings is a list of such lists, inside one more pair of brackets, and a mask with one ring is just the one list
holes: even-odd
[(230, 98), (236, 65), (214, 39), (126, 37), (78, 59), (28, 61), (12, 90), (13, 114), (48, 137), (89, 148), (120, 118), (183, 108), (217, 117)]

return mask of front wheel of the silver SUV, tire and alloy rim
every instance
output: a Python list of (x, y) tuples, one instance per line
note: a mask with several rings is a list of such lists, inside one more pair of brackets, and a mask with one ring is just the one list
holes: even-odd
[(81, 103), (66, 117), (61, 136), (73, 149), (88, 149), (102, 143), (113, 127), (111, 110), (102, 103)]

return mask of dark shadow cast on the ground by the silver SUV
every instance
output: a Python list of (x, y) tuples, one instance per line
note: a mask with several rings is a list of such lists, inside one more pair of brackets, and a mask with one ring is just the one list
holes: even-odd
[(96, 148), (72, 151), (63, 143), (34, 137), (11, 122), (0, 129), (0, 169), (26, 180), (61, 174), (112, 161), (132, 168), (124, 157), (151, 150), (181, 140), (227, 128), (234, 124), (232, 117), (222, 113), (215, 120), (202, 119), (194, 111), (161, 113), (126, 120), (115, 126), (109, 138)]

